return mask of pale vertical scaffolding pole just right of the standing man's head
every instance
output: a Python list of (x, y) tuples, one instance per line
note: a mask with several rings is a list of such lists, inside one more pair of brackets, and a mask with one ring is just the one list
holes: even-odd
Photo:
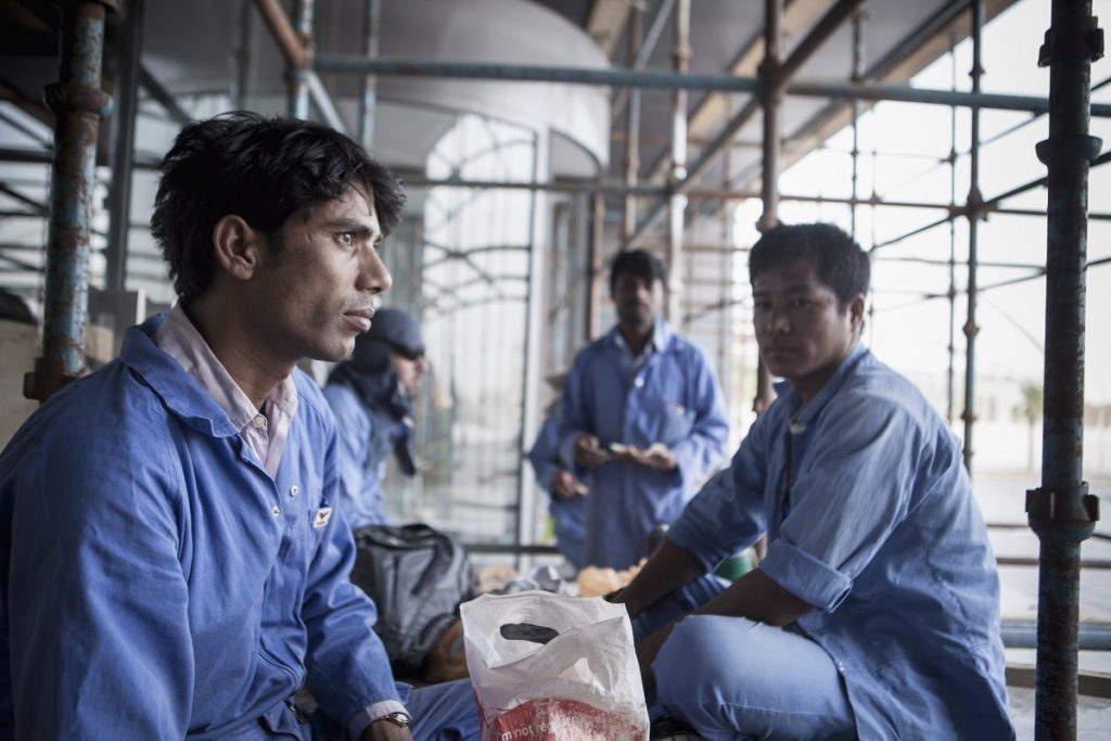
[[(691, 63), (691, 2), (675, 3), (675, 48), (674, 68), (685, 74)], [(687, 179), (687, 90), (678, 89), (671, 97), (671, 188)], [(683, 214), (687, 196), (672, 192), (668, 199), (668, 319), (678, 322), (681, 318), (683, 298)]]

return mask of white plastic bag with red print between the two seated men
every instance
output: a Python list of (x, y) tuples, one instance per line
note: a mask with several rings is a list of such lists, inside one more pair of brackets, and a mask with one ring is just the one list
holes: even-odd
[[(483, 741), (648, 739), (624, 605), (532, 591), (484, 594), (460, 611)], [(553, 632), (547, 643), (506, 638)]]

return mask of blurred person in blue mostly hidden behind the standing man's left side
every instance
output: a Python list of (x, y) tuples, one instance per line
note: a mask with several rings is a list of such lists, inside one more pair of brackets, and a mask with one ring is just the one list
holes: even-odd
[[(558, 394), (563, 389), (567, 373), (550, 375), (548, 383)], [(551, 499), (549, 512), (556, 530), (556, 547), (575, 571), (587, 565), (583, 560), (583, 539), (587, 531), (587, 497), (590, 487), (569, 471), (559, 459), (560, 398), (557, 395), (548, 408), (544, 423), (529, 451), (529, 463), (537, 474), (537, 483)]]

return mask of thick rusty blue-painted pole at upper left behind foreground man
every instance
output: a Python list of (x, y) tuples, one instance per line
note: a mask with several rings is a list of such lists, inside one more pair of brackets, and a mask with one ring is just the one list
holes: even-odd
[(46, 401), (84, 370), (84, 323), (89, 312), (89, 238), (96, 184), (97, 132), (112, 98), (100, 89), (106, 7), (62, 4), (59, 81), (47, 86), (54, 112), (54, 162), (50, 178), (47, 290), (42, 357), (23, 379), (23, 395)]

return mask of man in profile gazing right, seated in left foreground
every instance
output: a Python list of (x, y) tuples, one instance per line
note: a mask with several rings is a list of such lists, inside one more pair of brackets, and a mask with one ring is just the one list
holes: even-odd
[(296, 367), (370, 328), (400, 186), (250, 113), (186, 127), (161, 172), (178, 302), (0, 454), (0, 739), (478, 739), (468, 683), (393, 681)]

